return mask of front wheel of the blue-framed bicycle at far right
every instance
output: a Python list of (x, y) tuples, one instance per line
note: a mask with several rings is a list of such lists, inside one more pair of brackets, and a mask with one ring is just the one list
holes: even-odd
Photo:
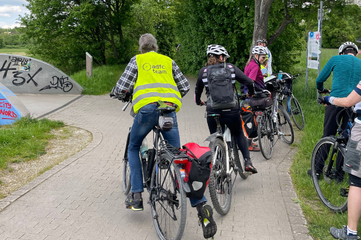
[[(341, 188), (349, 188), (348, 173), (344, 172), (341, 182), (336, 183), (336, 178), (325, 176), (325, 171), (332, 158), (331, 154), (335, 140), (330, 137), (320, 139), (313, 148), (311, 158), (312, 181), (321, 202), (334, 213), (345, 213), (347, 211), (347, 197), (341, 196)], [(344, 151), (338, 146), (337, 158), (343, 165)], [(341, 154), (341, 155), (338, 155)], [(324, 160), (326, 159), (326, 160)], [(324, 167), (320, 165), (324, 162)], [(334, 161), (333, 167), (337, 161)], [(322, 169), (321, 169), (322, 168)], [(335, 168), (333, 168), (335, 170)], [(343, 172), (343, 171), (342, 171)]]

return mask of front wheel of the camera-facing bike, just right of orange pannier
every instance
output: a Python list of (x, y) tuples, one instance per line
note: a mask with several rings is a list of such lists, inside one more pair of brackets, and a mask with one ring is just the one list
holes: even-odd
[(260, 122), (257, 125), (258, 144), (261, 149), (262, 156), (270, 159), (274, 150), (274, 129), (270, 112), (264, 112)]

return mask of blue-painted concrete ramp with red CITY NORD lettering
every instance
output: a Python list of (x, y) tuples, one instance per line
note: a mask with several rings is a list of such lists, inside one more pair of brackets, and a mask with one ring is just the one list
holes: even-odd
[(21, 117), (29, 116), (30, 112), (23, 102), (0, 83), (0, 125), (11, 124)]

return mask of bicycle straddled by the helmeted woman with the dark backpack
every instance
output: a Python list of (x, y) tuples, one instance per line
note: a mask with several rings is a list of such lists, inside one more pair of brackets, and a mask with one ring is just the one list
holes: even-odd
[[(209, 180), (209, 194), (213, 207), (217, 213), (225, 215), (231, 206), (232, 188), (239, 172), (242, 178), (247, 178), (251, 172), (245, 171), (245, 160), (238, 149), (236, 138), (231, 134), (227, 125), (224, 133), (219, 119), (221, 115), (210, 114), (207, 118), (213, 118), (217, 122), (217, 132), (210, 135), (205, 141), (210, 142), (212, 150), (212, 170)], [(235, 177), (232, 181), (232, 173)]]

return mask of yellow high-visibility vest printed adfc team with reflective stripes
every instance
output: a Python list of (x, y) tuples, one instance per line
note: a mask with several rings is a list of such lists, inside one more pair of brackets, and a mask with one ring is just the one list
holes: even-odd
[(156, 52), (137, 55), (138, 78), (133, 92), (133, 108), (139, 109), (158, 100), (182, 106), (182, 96), (173, 78), (172, 59)]

